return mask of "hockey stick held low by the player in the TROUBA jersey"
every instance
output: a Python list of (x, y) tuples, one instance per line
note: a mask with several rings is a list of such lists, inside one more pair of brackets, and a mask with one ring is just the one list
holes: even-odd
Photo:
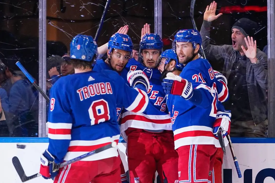
[[(77, 162), (81, 159), (84, 159), (86, 157), (89, 157), (89, 156), (92, 156), (94, 154), (100, 153), (101, 151), (107, 150), (107, 149), (112, 148), (112, 147), (116, 147), (116, 145), (117, 145), (117, 142), (112, 142), (112, 143), (109, 143), (108, 145), (100, 147), (96, 150), (90, 151), (89, 153), (86, 153), (86, 154), (83, 154), (81, 156), (75, 157), (75, 158), (73, 158), (69, 161), (65, 161), (65, 162), (62, 162), (62, 163), (59, 163), (59, 164), (54, 164), (53, 172), (57, 171), (59, 168), (65, 167), (65, 166), (67, 166), (69, 164), (72, 164), (74, 162)], [(16, 156), (14, 156), (12, 158), (12, 164), (13, 164), (15, 170), (17, 171), (17, 173), (18, 173), (18, 175), (19, 175), (22, 182), (26, 182), (26, 181), (29, 181), (31, 179), (34, 179), (34, 178), (37, 178), (37, 177), (41, 176), (40, 173), (36, 173), (36, 174), (31, 175), (31, 176), (26, 176), (25, 171), (24, 171), (18, 157), (16, 157)]]

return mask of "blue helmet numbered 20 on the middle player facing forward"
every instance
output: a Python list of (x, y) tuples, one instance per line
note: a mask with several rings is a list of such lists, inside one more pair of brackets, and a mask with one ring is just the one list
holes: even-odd
[(146, 33), (139, 43), (140, 50), (143, 49), (158, 49), (162, 52), (163, 42), (160, 35), (155, 33)]

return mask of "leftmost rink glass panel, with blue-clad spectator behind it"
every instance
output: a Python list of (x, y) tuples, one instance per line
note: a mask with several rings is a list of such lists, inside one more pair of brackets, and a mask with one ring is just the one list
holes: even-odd
[(0, 2), (0, 137), (38, 137), (38, 92), (15, 64), (38, 81), (38, 5)]

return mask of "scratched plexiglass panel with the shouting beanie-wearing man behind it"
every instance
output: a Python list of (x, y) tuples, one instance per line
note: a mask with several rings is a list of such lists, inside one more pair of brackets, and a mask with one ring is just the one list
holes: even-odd
[[(202, 51), (200, 54), (205, 55), (213, 69), (228, 80), (229, 100), (223, 104), (232, 114), (230, 135), (265, 137), (268, 125), (267, 1), (217, 1), (216, 11), (214, 6), (207, 8), (211, 2), (162, 1), (162, 36), (167, 42), (165, 49), (171, 48), (178, 30), (197, 27), (204, 48), (204, 54)], [(215, 12), (212, 17), (208, 16), (210, 11)], [(233, 25), (237, 27), (232, 30)], [(250, 40), (251, 37), (256, 40), (256, 58), (249, 51), (244, 54), (241, 48), (246, 46), (243, 31), (250, 36)], [(257, 58), (260, 63), (257, 63)], [(252, 65), (252, 62), (256, 64)]]

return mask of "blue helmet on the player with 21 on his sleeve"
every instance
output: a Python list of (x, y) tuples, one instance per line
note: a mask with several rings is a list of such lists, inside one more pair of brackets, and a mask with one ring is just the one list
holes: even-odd
[(202, 45), (202, 37), (200, 36), (199, 31), (196, 29), (182, 29), (179, 30), (175, 37), (174, 41), (172, 43), (172, 48), (176, 49), (176, 43), (177, 42), (189, 42), (192, 43), (194, 49), (196, 48), (197, 44), (200, 46)]

